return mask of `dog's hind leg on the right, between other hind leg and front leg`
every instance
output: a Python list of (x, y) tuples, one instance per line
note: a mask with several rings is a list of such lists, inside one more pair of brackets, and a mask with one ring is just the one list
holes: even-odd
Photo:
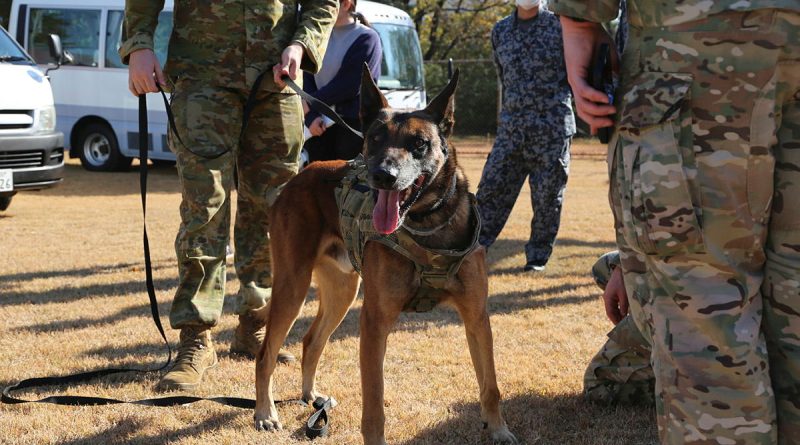
[[(343, 246), (336, 247), (344, 249)], [(308, 402), (326, 397), (316, 390), (317, 365), (328, 339), (344, 319), (358, 292), (360, 279), (352, 270), (347, 254), (344, 254), (344, 264), (339, 264), (339, 259), (321, 255), (314, 267), (314, 281), (319, 288), (319, 310), (303, 337), (303, 399)], [(349, 272), (346, 271), (348, 268)]]

